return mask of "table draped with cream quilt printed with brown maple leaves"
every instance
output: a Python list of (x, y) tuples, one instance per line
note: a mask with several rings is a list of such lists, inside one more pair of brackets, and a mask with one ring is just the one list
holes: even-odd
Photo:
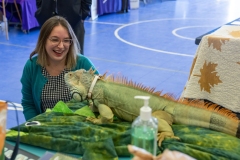
[(240, 113), (240, 26), (203, 36), (182, 97), (206, 99)]

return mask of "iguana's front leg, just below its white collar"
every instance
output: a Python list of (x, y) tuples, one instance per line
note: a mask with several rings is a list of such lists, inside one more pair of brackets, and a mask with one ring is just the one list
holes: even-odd
[(103, 123), (111, 123), (113, 122), (113, 112), (112, 110), (105, 104), (97, 105), (98, 112), (100, 116), (98, 118), (88, 117), (86, 120), (91, 121), (95, 124), (103, 124)]

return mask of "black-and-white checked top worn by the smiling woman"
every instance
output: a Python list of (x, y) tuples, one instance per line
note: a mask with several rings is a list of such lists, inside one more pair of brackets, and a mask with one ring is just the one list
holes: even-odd
[(58, 76), (51, 76), (43, 67), (42, 74), (48, 79), (42, 90), (41, 105), (43, 112), (47, 108), (52, 109), (60, 100), (67, 102), (71, 99), (70, 90), (64, 81), (64, 75), (69, 71), (64, 69)]

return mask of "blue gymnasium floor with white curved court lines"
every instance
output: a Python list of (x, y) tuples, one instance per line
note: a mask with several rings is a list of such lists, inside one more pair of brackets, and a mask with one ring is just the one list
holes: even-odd
[[(150, 0), (128, 13), (111, 13), (85, 22), (85, 56), (100, 73), (128, 79), (179, 97), (197, 49), (194, 40), (240, 17), (239, 0)], [(25, 34), (11, 26), (10, 40), (0, 30), (0, 100), (18, 106), (20, 123), (22, 69), (39, 29)], [(9, 105), (7, 128), (16, 126)]]

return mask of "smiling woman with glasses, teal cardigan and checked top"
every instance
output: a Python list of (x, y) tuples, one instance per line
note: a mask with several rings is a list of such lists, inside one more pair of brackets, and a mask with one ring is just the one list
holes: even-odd
[(43, 24), (21, 78), (26, 120), (53, 108), (60, 100), (67, 102), (71, 99), (64, 81), (65, 73), (95, 69), (87, 57), (79, 54), (78, 46), (70, 24), (63, 17), (52, 17)]

